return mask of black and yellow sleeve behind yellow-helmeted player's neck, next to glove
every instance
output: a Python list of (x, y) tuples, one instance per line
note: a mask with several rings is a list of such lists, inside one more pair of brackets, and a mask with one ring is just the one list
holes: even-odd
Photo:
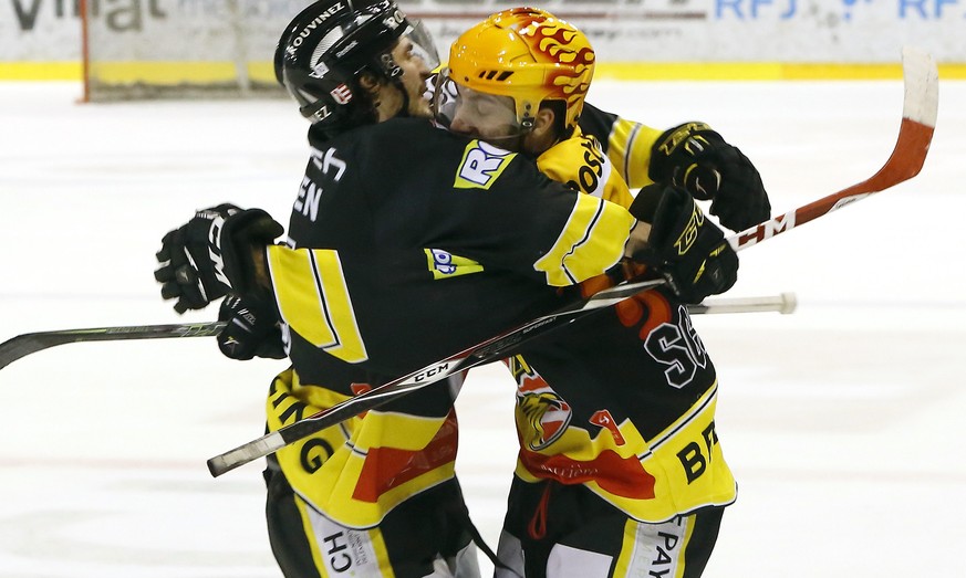
[(663, 130), (605, 113), (586, 103), (580, 116), (580, 127), (601, 141), (614, 169), (631, 188), (640, 189), (653, 182), (647, 176), (651, 148)]

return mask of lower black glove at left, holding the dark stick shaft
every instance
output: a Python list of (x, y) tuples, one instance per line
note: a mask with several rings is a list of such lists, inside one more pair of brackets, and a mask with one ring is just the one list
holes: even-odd
[(268, 299), (229, 294), (218, 309), (218, 320), (228, 325), (218, 334), (218, 348), (231, 359), (285, 357), (279, 314)]

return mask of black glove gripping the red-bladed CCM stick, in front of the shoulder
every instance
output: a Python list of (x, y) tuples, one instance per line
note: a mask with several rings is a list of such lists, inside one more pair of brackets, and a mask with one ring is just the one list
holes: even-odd
[(738, 280), (738, 254), (683, 189), (644, 187), (631, 213), (651, 223), (647, 246), (632, 259), (662, 273), (684, 303), (700, 303), (728, 291)]

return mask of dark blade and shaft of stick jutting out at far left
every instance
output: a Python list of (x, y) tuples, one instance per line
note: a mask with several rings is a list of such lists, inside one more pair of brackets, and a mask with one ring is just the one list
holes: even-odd
[(0, 344), (0, 369), (21, 357), (58, 345), (80, 341), (115, 341), (121, 339), (165, 339), (169, 337), (208, 337), (218, 335), (225, 322), (181, 323), (174, 325), (132, 325), (94, 327), (56, 332), (25, 333)]

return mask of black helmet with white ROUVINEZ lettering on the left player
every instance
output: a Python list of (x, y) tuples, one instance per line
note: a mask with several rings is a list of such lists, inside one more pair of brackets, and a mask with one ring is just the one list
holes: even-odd
[(403, 71), (391, 52), (404, 35), (427, 53), (429, 67), (437, 65), (428, 34), (394, 1), (320, 0), (297, 15), (279, 39), (276, 78), (298, 101), (302, 116), (325, 133), (375, 123), (374, 104), (361, 90), (359, 76), (368, 71), (403, 90)]

